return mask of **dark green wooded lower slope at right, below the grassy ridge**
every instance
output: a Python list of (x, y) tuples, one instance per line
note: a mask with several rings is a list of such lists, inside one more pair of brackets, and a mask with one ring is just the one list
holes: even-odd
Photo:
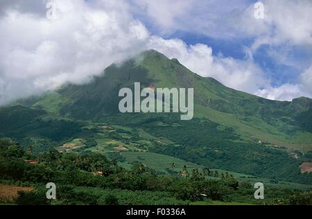
[[(263, 144), (234, 141), (233, 130), (218, 130), (218, 124), (193, 119), (180, 123), (166, 118), (166, 126), (146, 125), (148, 132), (174, 141), (173, 145), (158, 145), (152, 150), (179, 157), (196, 164), (232, 170), (245, 174), (311, 184), (312, 175), (302, 174), (299, 166), (306, 156), (292, 159), (288, 152)], [(173, 123), (179, 125), (172, 125)]]

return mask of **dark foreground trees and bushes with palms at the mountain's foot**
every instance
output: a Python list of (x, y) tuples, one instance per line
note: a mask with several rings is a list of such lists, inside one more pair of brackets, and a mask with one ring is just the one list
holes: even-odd
[[(39, 164), (28, 164), (35, 159)], [(101, 171), (103, 175), (95, 173)], [(0, 141), (2, 182), (29, 183), (36, 189), (19, 192), (17, 204), (189, 204), (209, 200), (263, 204), (253, 199), (254, 189), (234, 177), (207, 179), (209, 170), (187, 170), (180, 175), (157, 175), (155, 170), (135, 163), (125, 170), (103, 155), (60, 153), (55, 150), (34, 156), (18, 143)], [(57, 200), (45, 198), (44, 184), (57, 185)], [(312, 204), (312, 193), (289, 189), (266, 189), (266, 204)]]

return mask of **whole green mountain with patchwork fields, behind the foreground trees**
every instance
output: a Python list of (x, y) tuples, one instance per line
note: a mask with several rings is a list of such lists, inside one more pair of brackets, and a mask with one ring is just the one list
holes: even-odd
[[(135, 82), (142, 88), (194, 88), (194, 118), (121, 114), (119, 90), (133, 89)], [(209, 168), (312, 182), (311, 174), (300, 173), (300, 164), (312, 157), (311, 99), (280, 102), (229, 89), (153, 50), (112, 64), (85, 85), (64, 85), (3, 107), (0, 119), (6, 123), (0, 126), (2, 137), (33, 145), (37, 152), (64, 149), (64, 144), (107, 155), (125, 148)]]

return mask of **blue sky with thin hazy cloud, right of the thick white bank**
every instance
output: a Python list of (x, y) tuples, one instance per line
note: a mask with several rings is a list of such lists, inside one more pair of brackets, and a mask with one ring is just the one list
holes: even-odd
[[(167, 40), (177, 38), (188, 45), (205, 44), (212, 49), (214, 56), (246, 60), (251, 54), (253, 64), (263, 71), (266, 79), (265, 84), (257, 87), (259, 91), (266, 91), (267, 87), (279, 94), (243, 91), (279, 100), (311, 96), (311, 84), (300, 84), (302, 74), (309, 71), (312, 63), (311, 16), (307, 15), (312, 13), (311, 1), (262, 1), (265, 17), (261, 21), (250, 16), (258, 1), (190, 2), (191, 9), (184, 8), (185, 12), (171, 17), (174, 20), (172, 25), (166, 26), (166, 22), (157, 21), (146, 13), (137, 16), (150, 33)], [(163, 10), (168, 10), (166, 6), (168, 4), (164, 3)], [(150, 11), (153, 12), (157, 14), (157, 10)], [(248, 30), (248, 26), (253, 25), (255, 27)], [(297, 35), (293, 34), (295, 31), (298, 31)], [(261, 37), (266, 38), (266, 42), (252, 49)], [(311, 82), (311, 77), (307, 77), (310, 71), (305, 74), (308, 82)], [(284, 91), (279, 89), (283, 85), (288, 85), (284, 86)], [(287, 92), (289, 94), (284, 95)]]

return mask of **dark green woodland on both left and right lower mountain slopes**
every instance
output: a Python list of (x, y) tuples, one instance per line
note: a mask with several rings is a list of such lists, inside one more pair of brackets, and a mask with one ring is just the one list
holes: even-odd
[[(24, 115), (25, 110), (24, 107), (18, 107), (12, 110), (12, 114)], [(103, 135), (103, 129), (96, 125), (86, 128), (89, 123), (85, 121), (49, 117), (38, 119), (38, 115), (35, 115), (35, 119), (28, 116), (28, 119), (33, 119), (33, 121), (28, 121), (14, 130), (5, 129), (3, 126), (3, 137), (17, 139), (24, 146), (33, 146), (33, 152), (37, 154), (77, 137), (84, 139), (85, 147), (80, 149), (84, 151), (97, 146), (97, 135)], [(261, 144), (246, 142), (234, 132), (233, 128), (223, 127), (207, 118), (180, 121), (179, 116), (173, 114), (162, 116), (119, 114), (118, 116), (105, 116), (105, 121), (133, 128), (131, 132), (126, 130), (107, 132), (104, 134), (105, 138), (125, 145), (133, 143), (139, 150), (150, 150), (209, 168), (231, 170), (257, 177), (302, 184), (312, 182), (311, 174), (302, 174), (299, 170), (303, 161), (311, 161), (311, 156), (309, 157), (311, 152), (306, 152), (305, 155), (297, 152), (300, 159), (292, 159), (286, 150), (269, 147), (265, 142)], [(8, 123), (14, 124), (15, 122), (11, 119)], [(164, 145), (151, 141), (150, 146), (141, 145), (139, 142), (146, 141), (146, 138), (135, 131), (137, 128), (159, 139), (166, 138), (171, 143)], [(129, 137), (123, 138), (123, 134), (128, 134)]]

